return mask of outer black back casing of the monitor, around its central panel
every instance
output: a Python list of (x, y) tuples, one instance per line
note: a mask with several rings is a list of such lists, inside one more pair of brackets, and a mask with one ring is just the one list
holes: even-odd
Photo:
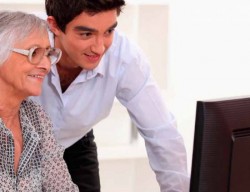
[(197, 101), (190, 192), (230, 189), (232, 135), (250, 130), (250, 96)]

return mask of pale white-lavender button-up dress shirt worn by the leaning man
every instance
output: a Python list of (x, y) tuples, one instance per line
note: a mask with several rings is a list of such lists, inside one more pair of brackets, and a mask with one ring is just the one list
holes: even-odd
[(164, 105), (147, 59), (124, 35), (115, 32), (98, 67), (82, 70), (64, 93), (52, 66), (36, 100), (52, 118), (59, 143), (69, 147), (109, 115), (115, 97), (145, 140), (161, 191), (188, 191), (186, 151), (175, 119)]

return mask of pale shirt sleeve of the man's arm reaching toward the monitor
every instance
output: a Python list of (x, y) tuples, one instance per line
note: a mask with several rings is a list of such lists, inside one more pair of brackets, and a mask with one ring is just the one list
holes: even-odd
[(149, 163), (161, 192), (187, 192), (186, 149), (175, 118), (167, 110), (160, 89), (150, 75), (148, 61), (140, 51), (130, 53), (129, 46), (126, 47), (126, 57), (131, 58), (123, 63), (117, 98), (145, 140)]

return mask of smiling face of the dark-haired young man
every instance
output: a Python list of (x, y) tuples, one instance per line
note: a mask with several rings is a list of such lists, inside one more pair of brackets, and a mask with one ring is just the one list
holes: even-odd
[(92, 15), (81, 13), (67, 24), (65, 33), (56, 34), (55, 46), (63, 52), (59, 64), (94, 69), (111, 46), (116, 26), (116, 9)]

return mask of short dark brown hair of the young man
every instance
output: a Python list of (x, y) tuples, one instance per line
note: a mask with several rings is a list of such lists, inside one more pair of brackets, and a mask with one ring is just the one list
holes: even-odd
[(66, 25), (82, 12), (99, 13), (117, 9), (119, 15), (125, 0), (45, 0), (48, 16), (53, 16), (58, 27), (65, 32)]

